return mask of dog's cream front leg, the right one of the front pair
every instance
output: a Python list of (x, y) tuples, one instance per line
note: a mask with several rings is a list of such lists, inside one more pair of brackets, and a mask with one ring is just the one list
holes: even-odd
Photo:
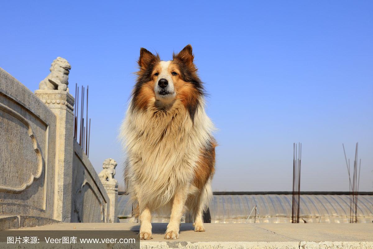
[(179, 190), (176, 190), (172, 202), (170, 222), (167, 225), (167, 230), (166, 234), (164, 235), (164, 239), (179, 239), (180, 221), (181, 217), (183, 216), (186, 197), (188, 197), (188, 188), (189, 187), (184, 187), (180, 188)]

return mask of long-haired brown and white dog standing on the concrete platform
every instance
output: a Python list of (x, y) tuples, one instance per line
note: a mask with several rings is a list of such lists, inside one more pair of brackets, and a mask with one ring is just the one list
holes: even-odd
[(152, 213), (171, 213), (165, 239), (179, 238), (187, 209), (194, 231), (205, 231), (202, 213), (212, 196), (216, 142), (193, 59), (190, 45), (170, 61), (140, 49), (137, 83), (120, 128), (126, 191), (138, 205), (140, 239), (152, 239)]

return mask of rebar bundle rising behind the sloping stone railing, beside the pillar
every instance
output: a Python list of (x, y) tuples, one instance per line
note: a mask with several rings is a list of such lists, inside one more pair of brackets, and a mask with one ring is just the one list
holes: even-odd
[[(90, 154), (90, 137), (91, 137), (91, 119), (88, 125), (88, 85), (87, 85), (87, 105), (84, 109), (85, 88), (81, 88), (81, 107), (79, 116), (79, 87), (75, 84), (75, 107), (74, 107), (74, 138), (82, 147), (83, 152), (89, 156)], [(84, 114), (86, 116), (84, 123)], [(79, 136), (79, 138), (78, 138)]]

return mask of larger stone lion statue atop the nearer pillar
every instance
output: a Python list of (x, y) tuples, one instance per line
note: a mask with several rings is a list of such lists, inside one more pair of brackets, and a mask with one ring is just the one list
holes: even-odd
[(69, 91), (68, 79), (70, 69), (71, 66), (66, 59), (57, 57), (51, 64), (49, 69), (50, 74), (44, 80), (40, 81), (39, 89)]

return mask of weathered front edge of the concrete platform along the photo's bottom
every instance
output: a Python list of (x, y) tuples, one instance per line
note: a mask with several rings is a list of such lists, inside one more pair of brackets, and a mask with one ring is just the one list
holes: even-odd
[(291, 241), (291, 242), (157, 242), (145, 241), (140, 242), (141, 249), (351, 249), (351, 248), (368, 248), (373, 249), (372, 242), (314, 242), (314, 241)]

